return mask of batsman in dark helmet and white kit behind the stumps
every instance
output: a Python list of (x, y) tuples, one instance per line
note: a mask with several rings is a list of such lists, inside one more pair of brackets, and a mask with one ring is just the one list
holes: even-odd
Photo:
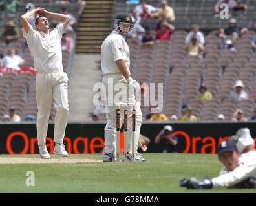
[[(103, 71), (103, 84), (106, 88), (106, 116), (107, 124), (105, 126), (105, 145), (103, 153), (103, 162), (112, 162), (114, 160), (115, 142), (116, 142), (116, 103), (114, 102), (115, 95), (119, 91), (114, 89), (117, 84), (123, 85), (121, 93), (123, 96), (127, 96), (127, 88), (133, 88), (136, 91), (140, 91), (140, 84), (136, 80), (133, 80), (130, 73), (130, 50), (129, 46), (125, 42), (125, 37), (131, 35), (133, 29), (133, 21), (129, 14), (119, 14), (114, 19), (114, 30), (105, 39), (101, 45), (101, 68)], [(111, 83), (112, 82), (112, 83)], [(140, 136), (140, 127), (142, 125), (142, 111), (140, 109), (140, 102), (136, 102), (134, 93), (129, 93), (129, 103), (136, 103), (136, 126), (135, 126), (135, 151), (138, 149), (138, 139)], [(114, 103), (114, 104), (112, 104)], [(127, 102), (123, 102), (127, 103)], [(129, 109), (128, 127), (131, 128), (131, 107)], [(123, 122), (123, 107), (121, 110), (120, 125)], [(129, 153), (128, 158), (131, 159), (131, 141), (132, 132), (128, 131), (129, 136)], [(127, 152), (127, 151), (124, 151)], [(136, 161), (144, 161), (144, 158), (138, 153), (135, 154)]]

